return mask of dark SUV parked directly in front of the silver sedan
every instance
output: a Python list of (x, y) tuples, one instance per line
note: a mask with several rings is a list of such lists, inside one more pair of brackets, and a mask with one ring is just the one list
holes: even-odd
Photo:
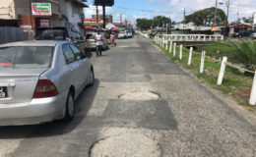
[(43, 27), (35, 33), (36, 40), (71, 41), (84, 53), (87, 50), (85, 36), (78, 30), (70, 27)]

